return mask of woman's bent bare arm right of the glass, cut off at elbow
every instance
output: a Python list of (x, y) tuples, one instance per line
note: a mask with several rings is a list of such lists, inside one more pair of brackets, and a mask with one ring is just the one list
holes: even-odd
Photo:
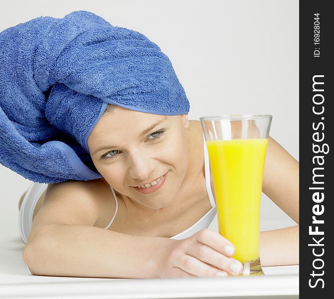
[[(269, 137), (262, 191), (299, 224), (299, 163)], [(262, 266), (299, 265), (299, 225), (260, 233)]]

